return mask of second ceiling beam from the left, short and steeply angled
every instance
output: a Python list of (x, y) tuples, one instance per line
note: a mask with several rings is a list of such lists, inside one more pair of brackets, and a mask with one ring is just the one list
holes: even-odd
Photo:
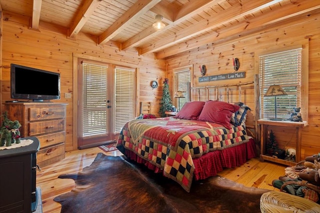
[(79, 33), (85, 22), (89, 19), (90, 15), (93, 13), (94, 9), (99, 5), (100, 2), (101, 0), (84, 1), (79, 12), (76, 14), (74, 20), (72, 21), (72, 25), (68, 30), (68, 37), (74, 37), (74, 35)]

